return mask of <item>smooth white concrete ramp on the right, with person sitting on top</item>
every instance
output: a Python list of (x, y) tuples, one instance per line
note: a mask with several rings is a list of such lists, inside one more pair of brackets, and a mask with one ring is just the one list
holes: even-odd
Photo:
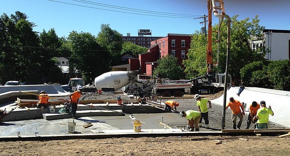
[[(231, 87), (229, 90), (227, 90), (227, 102), (230, 101), (230, 97), (234, 97), (234, 99), (246, 103), (246, 110), (248, 110), (250, 104), (252, 104), (253, 101), (258, 103), (260, 103), (260, 101), (265, 101), (266, 106), (271, 106), (272, 111), (274, 112), (274, 116), (269, 115), (269, 121), (290, 127), (290, 91), (246, 87), (240, 96), (238, 96), (238, 90), (239, 87)], [(211, 101), (222, 106), (224, 95)]]

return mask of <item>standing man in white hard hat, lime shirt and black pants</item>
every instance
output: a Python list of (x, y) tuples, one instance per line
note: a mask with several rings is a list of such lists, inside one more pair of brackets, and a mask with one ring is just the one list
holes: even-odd
[[(202, 125), (201, 120), (203, 118), (205, 120), (205, 127), (209, 128), (208, 109), (211, 108), (211, 101), (209, 101), (205, 98), (201, 98), (200, 95), (198, 95), (198, 94), (195, 94), (194, 98), (196, 100), (198, 110), (201, 112), (201, 118), (199, 120), (198, 126), (201, 127), (201, 125)], [(208, 103), (209, 103), (209, 108), (207, 105)]]

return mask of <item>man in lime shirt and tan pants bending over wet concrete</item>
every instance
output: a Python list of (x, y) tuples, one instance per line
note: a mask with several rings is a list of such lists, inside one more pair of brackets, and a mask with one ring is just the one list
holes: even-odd
[(199, 111), (182, 111), (181, 113), (179, 113), (179, 115), (181, 117), (185, 117), (188, 120), (187, 128), (189, 128), (189, 131), (194, 131), (194, 128), (195, 131), (199, 131), (198, 122), (201, 118), (201, 114)]

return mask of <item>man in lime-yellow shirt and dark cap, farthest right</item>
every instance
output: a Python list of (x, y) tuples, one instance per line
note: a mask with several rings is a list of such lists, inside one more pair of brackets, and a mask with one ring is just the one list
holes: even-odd
[(268, 121), (269, 121), (269, 115), (274, 115), (271, 106), (269, 106), (269, 108), (266, 108), (266, 102), (265, 101), (261, 101), (260, 105), (262, 106), (262, 108), (259, 108), (257, 111), (257, 115), (256, 117), (258, 118), (257, 121), (257, 129), (266, 129), (268, 128)]

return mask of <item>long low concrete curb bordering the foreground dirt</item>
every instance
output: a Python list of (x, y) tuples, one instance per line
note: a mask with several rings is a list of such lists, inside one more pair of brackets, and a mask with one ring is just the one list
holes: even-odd
[[(223, 132), (134, 132), (134, 133), (98, 133), (98, 134), (67, 134), (67, 135), (43, 135), (35, 136), (2, 136), (0, 141), (48, 141), (48, 140), (69, 140), (69, 139), (106, 139), (106, 138), (140, 138), (140, 137), (172, 137), (172, 136), (238, 136), (245, 133), (223, 133)], [(247, 135), (255, 135), (247, 133)]]

